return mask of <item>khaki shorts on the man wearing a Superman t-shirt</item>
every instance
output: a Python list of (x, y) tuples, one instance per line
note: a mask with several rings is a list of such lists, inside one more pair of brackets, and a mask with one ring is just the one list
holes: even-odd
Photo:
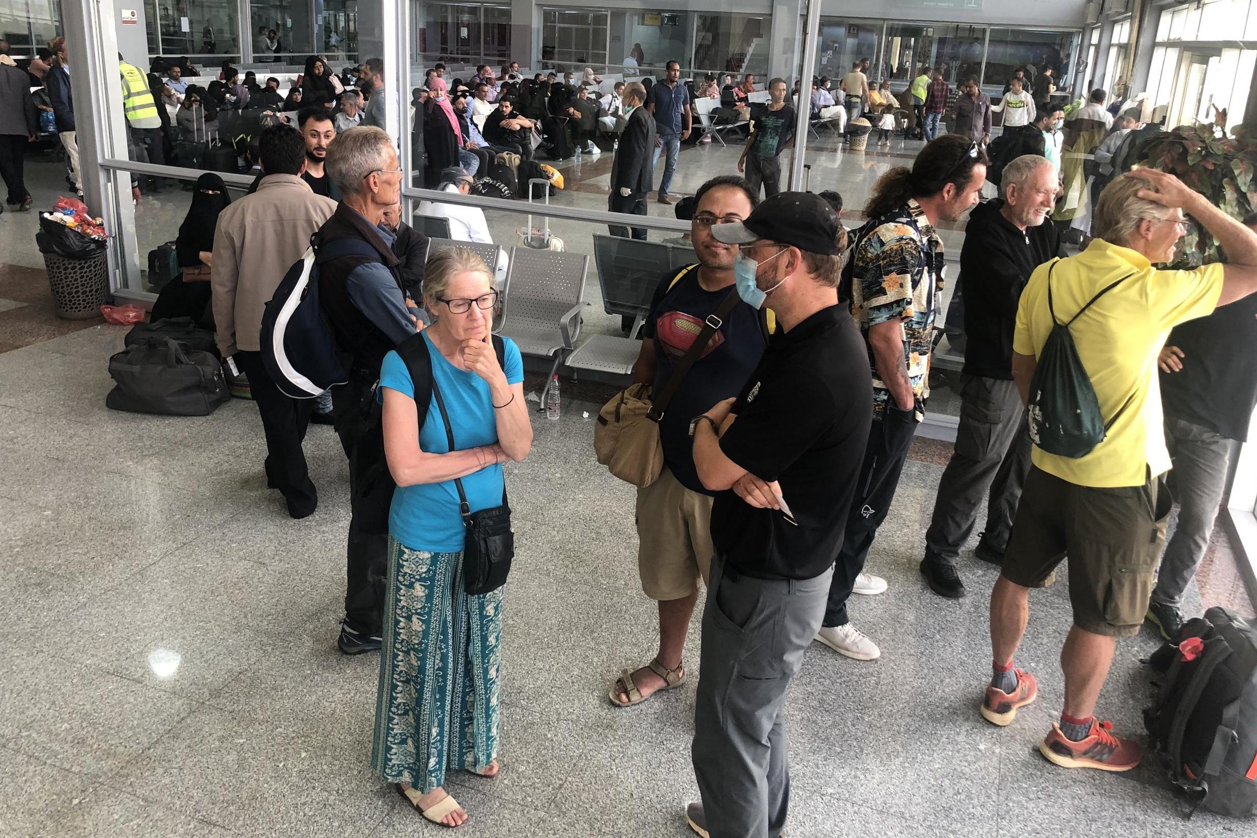
[(659, 479), (637, 489), (637, 571), (655, 600), (685, 599), (711, 574), (711, 502), (685, 488), (664, 467)]

